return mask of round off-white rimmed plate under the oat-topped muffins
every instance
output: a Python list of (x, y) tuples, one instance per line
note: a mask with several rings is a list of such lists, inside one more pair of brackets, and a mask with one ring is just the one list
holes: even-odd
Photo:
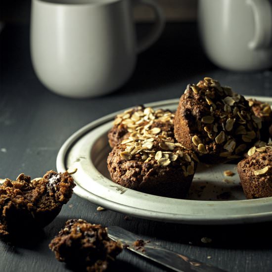
[[(272, 104), (269, 97), (253, 98)], [(171, 99), (145, 106), (176, 110), (178, 102), (179, 99)], [(106, 165), (110, 152), (107, 132), (120, 112), (91, 122), (70, 136), (60, 148), (57, 170), (78, 169), (73, 175), (77, 195), (110, 210), (156, 221), (212, 225), (272, 220), (272, 197), (246, 200), (234, 164), (211, 167), (199, 164), (188, 199), (146, 194), (111, 181)], [(224, 177), (225, 170), (235, 175)]]

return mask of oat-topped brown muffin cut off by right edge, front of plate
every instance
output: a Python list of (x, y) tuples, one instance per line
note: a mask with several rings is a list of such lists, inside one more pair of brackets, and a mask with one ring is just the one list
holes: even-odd
[(237, 171), (246, 198), (272, 196), (272, 145), (253, 146), (240, 161)]

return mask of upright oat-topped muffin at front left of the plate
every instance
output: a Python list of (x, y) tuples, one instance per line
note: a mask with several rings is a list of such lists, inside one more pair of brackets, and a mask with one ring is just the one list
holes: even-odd
[(184, 198), (197, 157), (174, 138), (132, 133), (114, 146), (107, 164), (112, 181), (137, 191)]

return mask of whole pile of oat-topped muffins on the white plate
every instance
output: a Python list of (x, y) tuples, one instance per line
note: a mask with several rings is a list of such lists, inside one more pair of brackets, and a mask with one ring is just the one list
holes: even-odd
[[(108, 133), (113, 148), (108, 170), (112, 181), (122, 186), (184, 198), (197, 162), (225, 163), (246, 157), (238, 163), (246, 197), (269, 197), (271, 125), (268, 104), (248, 101), (206, 77), (187, 86), (175, 114), (137, 106), (117, 115)], [(247, 155), (252, 150), (254, 154)]]

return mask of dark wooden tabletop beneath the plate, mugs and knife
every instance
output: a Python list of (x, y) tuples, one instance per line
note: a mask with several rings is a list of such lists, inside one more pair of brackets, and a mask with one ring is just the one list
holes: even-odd
[[(139, 26), (140, 33), (146, 26)], [(235, 73), (215, 67), (205, 57), (195, 24), (167, 24), (150, 49), (138, 56), (135, 73), (122, 89), (92, 99), (57, 96), (38, 81), (29, 52), (29, 26), (6, 25), (0, 34), (0, 177), (25, 173), (40, 177), (56, 169), (63, 142), (84, 125), (136, 104), (180, 97), (188, 83), (204, 76), (218, 79), (242, 94), (272, 96), (272, 70)], [(48, 249), (65, 221), (82, 218), (120, 226), (156, 240), (168, 249), (229, 272), (272, 271), (272, 224), (189, 226), (137, 219), (106, 210), (73, 195), (58, 217), (28, 242), (0, 242), (1, 272), (64, 272)], [(18, 228), (18, 232), (20, 228)], [(204, 244), (202, 237), (212, 242)], [(165, 271), (124, 250), (112, 271)]]

